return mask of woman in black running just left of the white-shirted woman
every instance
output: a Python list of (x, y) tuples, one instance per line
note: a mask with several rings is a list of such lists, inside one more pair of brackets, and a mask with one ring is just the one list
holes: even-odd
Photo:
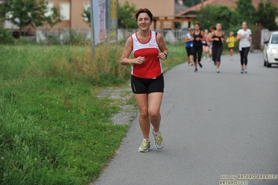
[(222, 32), (220, 23), (216, 24), (216, 30), (210, 35), (209, 40), (213, 41), (213, 61), (216, 62), (216, 72), (219, 73), (220, 57), (223, 51), (223, 41), (225, 40), (225, 33)]

